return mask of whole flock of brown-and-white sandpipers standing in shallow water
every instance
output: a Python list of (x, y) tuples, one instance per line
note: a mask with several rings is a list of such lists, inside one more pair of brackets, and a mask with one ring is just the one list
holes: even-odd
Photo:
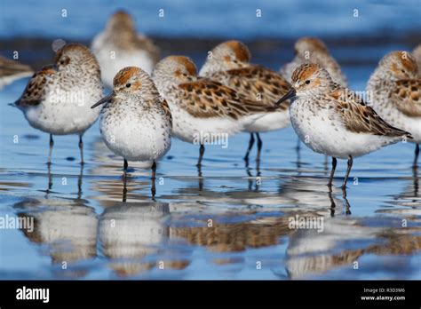
[[(91, 44), (66, 44), (51, 66), (29, 80), (18, 107), (28, 123), (53, 135), (77, 134), (83, 164), (83, 133), (100, 115), (107, 147), (128, 162), (151, 162), (155, 195), (156, 162), (171, 148), (171, 138), (199, 147), (203, 136), (250, 133), (244, 157), (255, 138), (260, 160), (266, 131), (292, 124), (298, 138), (314, 152), (332, 157), (331, 187), (337, 158), (347, 160), (342, 188), (353, 158), (396, 142), (421, 142), (421, 44), (413, 52), (390, 52), (369, 78), (368, 99), (347, 88), (345, 75), (326, 45), (314, 37), (295, 44), (295, 58), (279, 72), (250, 63), (239, 41), (214, 47), (197, 73), (185, 56), (160, 60), (160, 50), (139, 35), (127, 12), (115, 12)], [(2, 84), (32, 74), (29, 67), (0, 59), (7, 67)], [(7, 77), (3, 78), (3, 77)], [(103, 96), (103, 84), (112, 91)], [(199, 139), (198, 139), (199, 137)]]

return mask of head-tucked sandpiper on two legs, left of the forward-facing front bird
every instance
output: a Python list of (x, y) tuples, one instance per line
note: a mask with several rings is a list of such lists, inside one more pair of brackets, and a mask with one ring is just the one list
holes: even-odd
[(82, 44), (66, 44), (57, 53), (54, 65), (44, 67), (30, 79), (25, 91), (13, 106), (18, 107), (28, 123), (52, 135), (79, 135), (83, 164), (83, 133), (99, 116), (91, 110), (91, 102), (102, 96), (99, 64)]

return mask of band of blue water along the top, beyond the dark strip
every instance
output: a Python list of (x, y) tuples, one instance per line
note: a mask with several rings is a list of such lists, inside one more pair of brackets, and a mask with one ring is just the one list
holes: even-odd
[[(140, 31), (155, 36), (397, 37), (421, 29), (419, 0), (1, 0), (0, 4), (3, 38), (89, 39), (120, 8), (135, 16)], [(160, 10), (164, 17), (159, 16)]]

